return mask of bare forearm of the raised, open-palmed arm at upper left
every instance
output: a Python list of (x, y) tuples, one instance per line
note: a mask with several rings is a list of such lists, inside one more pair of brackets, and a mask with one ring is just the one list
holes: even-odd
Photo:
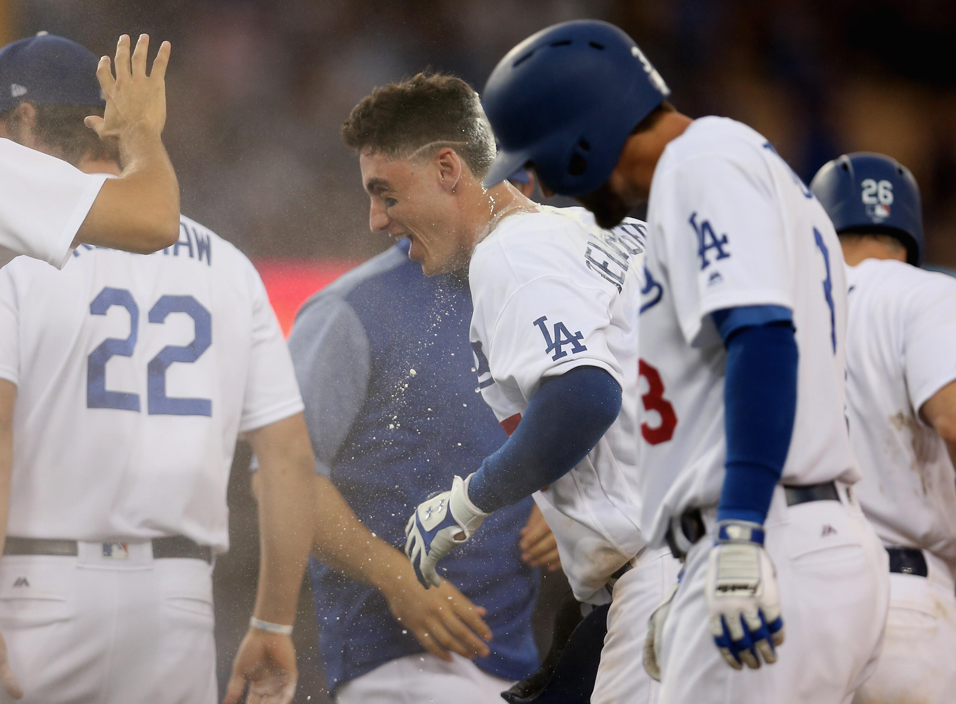
[(76, 232), (86, 243), (151, 253), (176, 243), (180, 191), (176, 172), (158, 134), (130, 129), (120, 139), (123, 170), (107, 179)]

